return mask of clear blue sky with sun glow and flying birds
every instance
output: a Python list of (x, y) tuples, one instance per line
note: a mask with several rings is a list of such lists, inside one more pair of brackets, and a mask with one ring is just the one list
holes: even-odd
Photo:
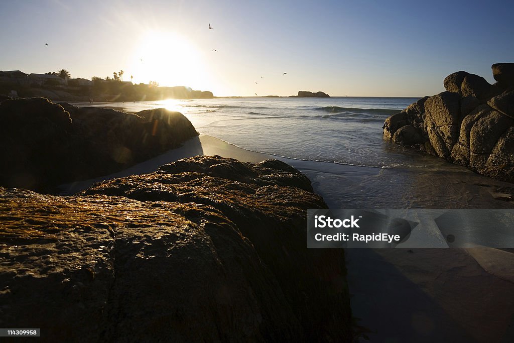
[(512, 13), (494, 0), (0, 0), (0, 70), (122, 69), (215, 96), (425, 96), (457, 70), (493, 83), (491, 64), (514, 62)]

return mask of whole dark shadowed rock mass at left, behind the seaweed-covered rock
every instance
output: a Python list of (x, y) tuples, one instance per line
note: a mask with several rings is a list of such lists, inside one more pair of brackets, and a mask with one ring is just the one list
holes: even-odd
[(4, 100), (0, 185), (50, 191), (119, 171), (195, 135), (186, 117), (164, 109), (127, 114), (45, 98)]

